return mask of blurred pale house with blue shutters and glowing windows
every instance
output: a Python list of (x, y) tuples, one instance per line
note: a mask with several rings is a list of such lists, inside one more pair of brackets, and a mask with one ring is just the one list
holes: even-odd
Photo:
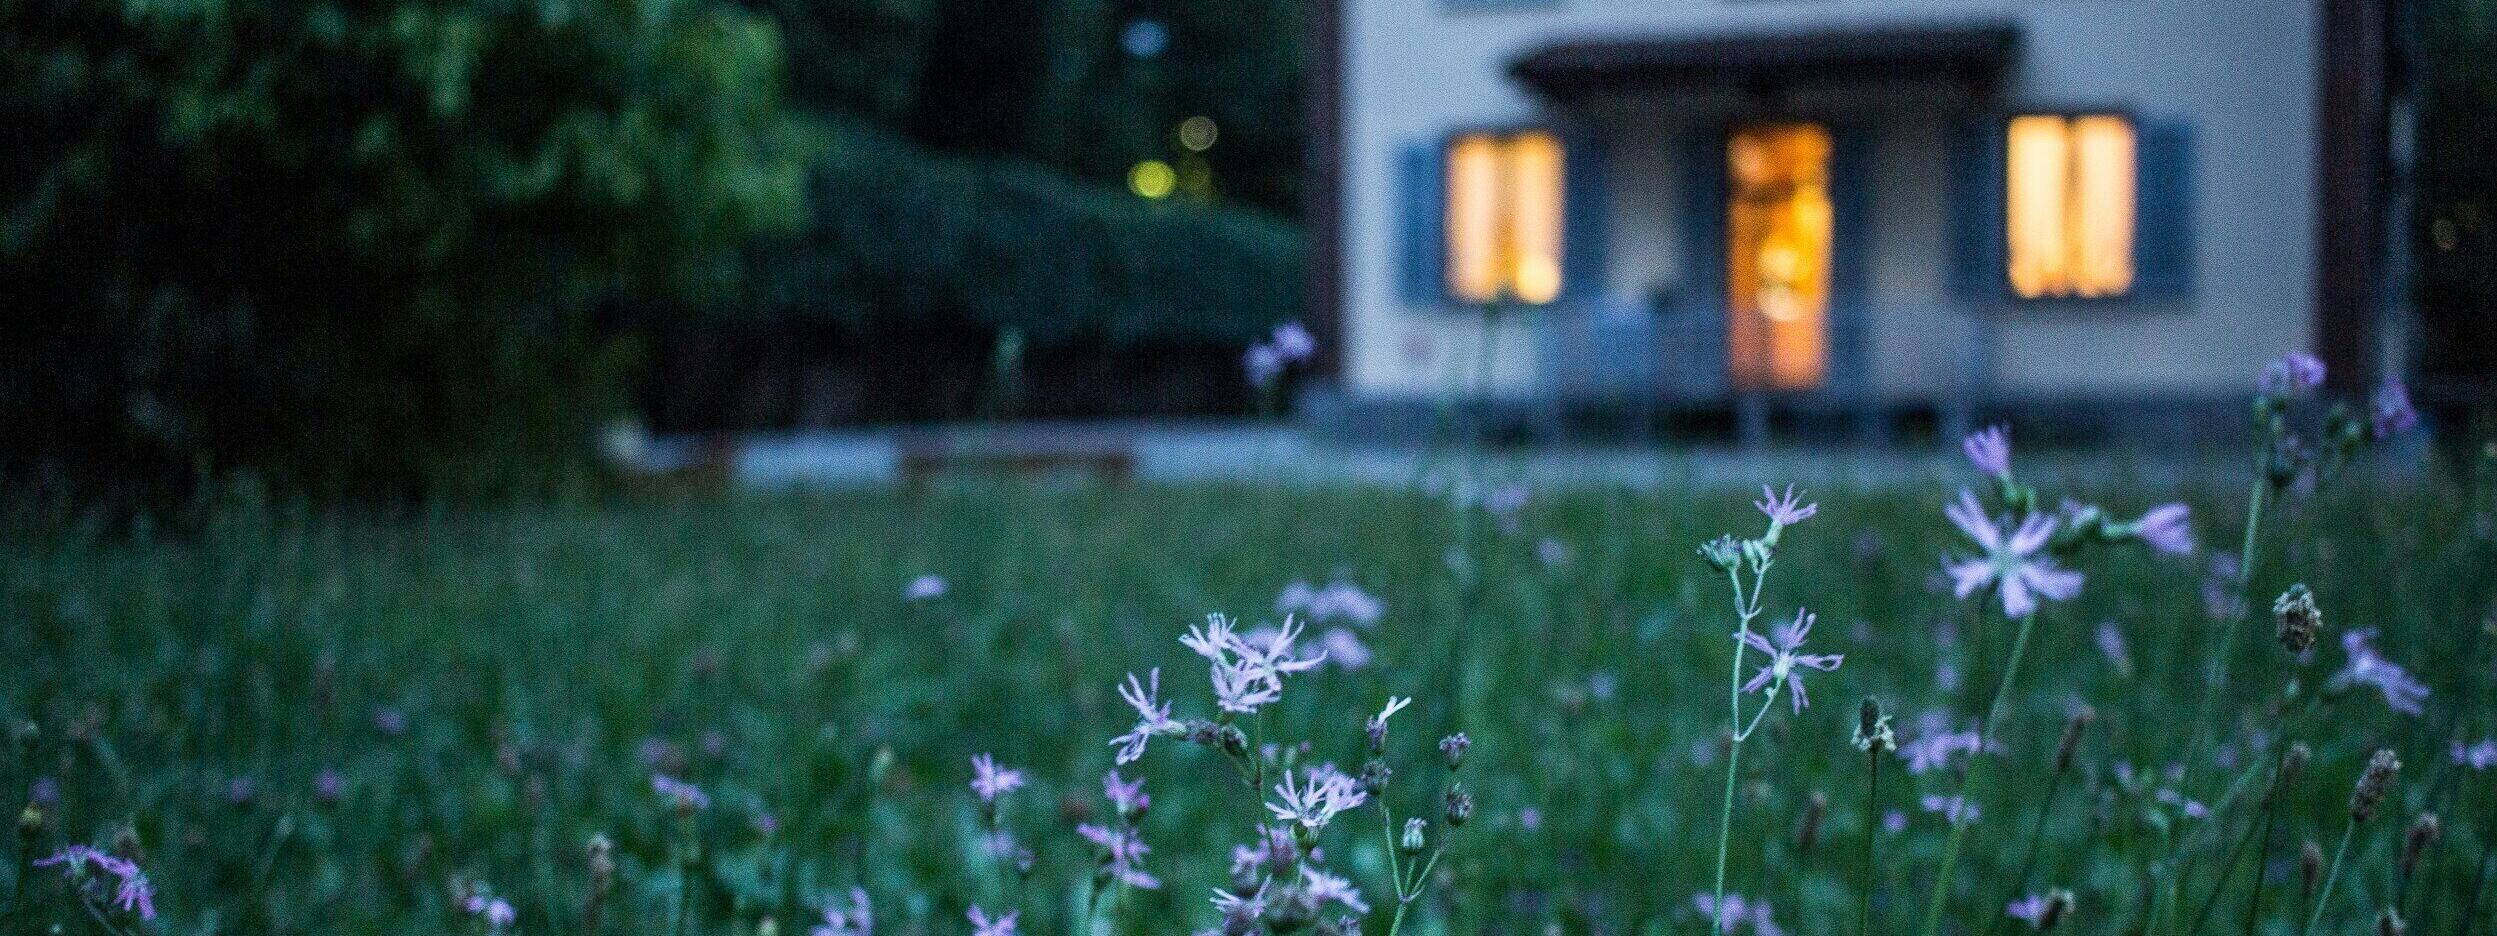
[(1318, 0), (1313, 412), (2200, 432), (2390, 354), (2387, 0)]

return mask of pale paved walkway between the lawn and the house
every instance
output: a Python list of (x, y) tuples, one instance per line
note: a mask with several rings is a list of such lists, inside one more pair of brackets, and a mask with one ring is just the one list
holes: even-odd
[[(822, 429), (739, 437), (727, 477), (752, 489), (886, 487), (899, 484), (901, 454), (941, 444), (951, 452), (1124, 452), (1131, 477), (1144, 482), (1266, 482), (1266, 484), (1416, 484), (1446, 464), (1406, 444), (1351, 444), (1313, 439), (1293, 427), (1256, 422), (1069, 422), (1069, 424), (954, 424), (914, 429)], [(707, 444), (662, 437), (639, 447), (632, 464), (652, 472), (687, 469)], [(719, 452), (719, 449), (714, 449)], [(1808, 487), (1933, 487), (1960, 484), (1968, 464), (1958, 452), (1898, 447), (1518, 447), (1486, 449), (1493, 477), (1533, 487), (1753, 487), (1763, 479)], [(2023, 472), (2038, 479), (2230, 482), (2245, 474), (2242, 457), (2200, 452), (2043, 452), (2023, 454)]]

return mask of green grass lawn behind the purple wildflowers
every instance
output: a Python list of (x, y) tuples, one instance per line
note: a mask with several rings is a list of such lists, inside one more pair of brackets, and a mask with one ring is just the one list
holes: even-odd
[[(1873, 694), (1900, 714), (1980, 711), (2010, 644), (2000, 614), (1938, 592), (1958, 534), (1945, 489), (1813, 492), (1820, 517), (1785, 534), (1765, 617), (1820, 612), (1813, 646), (1848, 654), (1813, 674), (1813, 709), (1773, 711), (1743, 754), (1728, 889), (1765, 896), (1793, 934), (1853, 934), (1865, 761), (1848, 744)], [(2117, 487), (2082, 492), (2130, 514), (2185, 497), (2205, 544), (2235, 547), (2242, 492)], [(644, 754), (702, 784), (714, 806), (692, 931), (802, 934), (819, 906), (864, 886), (884, 934), (964, 934), (966, 904), (1024, 911), (1026, 934), (1079, 931), (1091, 854), (1074, 821), (1099, 814), (1106, 739), (1131, 716), (1111, 691), (1164, 669), (1181, 714), (1211, 714), (1204, 669), (1176, 634), (1206, 612), (1268, 619), (1293, 579), (1343, 577), (1388, 607), (1363, 671), (1298, 676), (1266, 719), (1268, 739), (1311, 739), (1313, 756), (1361, 761), (1361, 719), (1411, 694), (1391, 759), (1398, 814), (1431, 814), (1443, 769), (1431, 744), (1468, 731), (1478, 814), (1416, 906), (1408, 934), (1698, 934), (1690, 896), (1715, 859), (1723, 789), (1730, 604), (1693, 547), (1755, 534), (1743, 492), (1538, 494), (1516, 532), (1478, 527), (1446, 502), (1368, 489), (961, 487), (926, 497), (634, 502), (607, 507), (442, 509), (330, 517), (227, 504), (175, 532), (95, 532), (12, 514), (0, 542), (0, 714), (12, 746), (0, 794), (37, 776), (60, 801), (0, 869), (10, 931), (97, 931), (55, 869), (25, 856), (112, 841), (132, 826), (160, 889), (167, 934), (474, 931), (449, 881), (489, 881), (524, 934), (579, 934), (584, 841), (617, 844), (612, 934), (669, 931), (679, 901), (677, 824), (652, 794)], [(2290, 502), (2265, 532), (2257, 604), (2310, 582), (2327, 614), (2300, 666), (2260, 614), (2240, 631), (2235, 681), (2215, 724), (2242, 769), (2265, 754), (2265, 709), (2295, 681), (2297, 706), (2340, 666), (2345, 626), (2380, 626), (2382, 651), (2435, 694), (2425, 716), (2355, 691), (2315, 701), (2287, 734), (2315, 746), (2270, 849), (2267, 934), (2292, 931), (2295, 851), (2335, 844), (2350, 781), (2375, 746), (2410, 766), (2385, 816), (2362, 829), (2322, 931), (2372, 926), (2397, 889), (2392, 851), (2420, 811), (2445, 841), (2412, 889), (2415, 934), (2462, 926), (2490, 841), (2497, 784), (2452, 764), (2455, 739), (2492, 731), (2485, 619), (2492, 549), (2460, 492), (2425, 484)], [(1568, 547), (1546, 567), (1538, 539)], [(1468, 549), (1471, 544), (1471, 549)], [(1471, 574), (1453, 574), (1456, 567)], [(2137, 549), (2085, 564), (2080, 602), (2050, 604), (1988, 766), (1983, 821), (1968, 834), (1950, 931), (1985, 934), (2003, 914), (2053, 746), (2075, 704), (2100, 711), (2082, 769), (2045, 821), (2038, 886), (2070, 886), (2070, 931), (2142, 926), (2145, 866), (2175, 819), (2147, 776), (2180, 759), (2215, 636), (2205, 564)], [(939, 602), (904, 604), (921, 572), (951, 579)], [(2095, 646), (2100, 622), (2130, 641), (2130, 671)], [(1955, 626), (1960, 641), (1938, 646)], [(1938, 666), (1955, 669), (1953, 684)], [(402, 711), (385, 734), (377, 709)], [(707, 739), (717, 751), (707, 751)], [(1034, 774), (1006, 824), (1036, 849), (1029, 879), (974, 856), (966, 759), (996, 751)], [(315, 774), (347, 781), (315, 796)], [(1131, 896), (1121, 934), (1214, 924), (1206, 889), (1263, 814), (1211, 751), (1156, 741), (1129, 774), (1149, 779), (1149, 869), (1169, 886)], [(2235, 779), (2202, 769), (2190, 796)], [(230, 796), (250, 779), (252, 796)], [(1945, 826), (1915, 806), (1935, 771), (1883, 766), (1875, 931), (1913, 931)], [(1805, 801), (1825, 794), (1820, 846), (1798, 846)], [(15, 801), (10, 801), (15, 806)], [(777, 834), (754, 829), (772, 814)], [(2222, 809), (2232, 841), (2252, 811)], [(1391, 901), (1378, 821), (1328, 829), (1328, 864), (1381, 914)], [(2185, 906), (2202, 904), (2220, 844), (2187, 851)], [(2205, 931), (2245, 931), (2240, 869)], [(2497, 899), (2480, 899), (2480, 931)], [(2185, 916), (2185, 914), (2177, 914)], [(2013, 929), (2003, 929), (2008, 934)], [(2182, 931), (2162, 924), (2160, 931)]]

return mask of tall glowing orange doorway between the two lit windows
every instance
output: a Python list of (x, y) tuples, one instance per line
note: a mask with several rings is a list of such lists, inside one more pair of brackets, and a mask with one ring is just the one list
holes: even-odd
[(1735, 387), (1810, 389), (1828, 377), (1830, 132), (1735, 130), (1725, 145), (1725, 352)]

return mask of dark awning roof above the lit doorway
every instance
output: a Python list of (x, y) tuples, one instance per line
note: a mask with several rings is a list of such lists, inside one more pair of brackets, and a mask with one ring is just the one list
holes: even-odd
[(1860, 80), (1948, 80), (1985, 92), (2013, 65), (2008, 20), (1795, 32), (1603, 37), (1543, 45), (1508, 75), (1548, 95), (1648, 87), (1780, 90)]

